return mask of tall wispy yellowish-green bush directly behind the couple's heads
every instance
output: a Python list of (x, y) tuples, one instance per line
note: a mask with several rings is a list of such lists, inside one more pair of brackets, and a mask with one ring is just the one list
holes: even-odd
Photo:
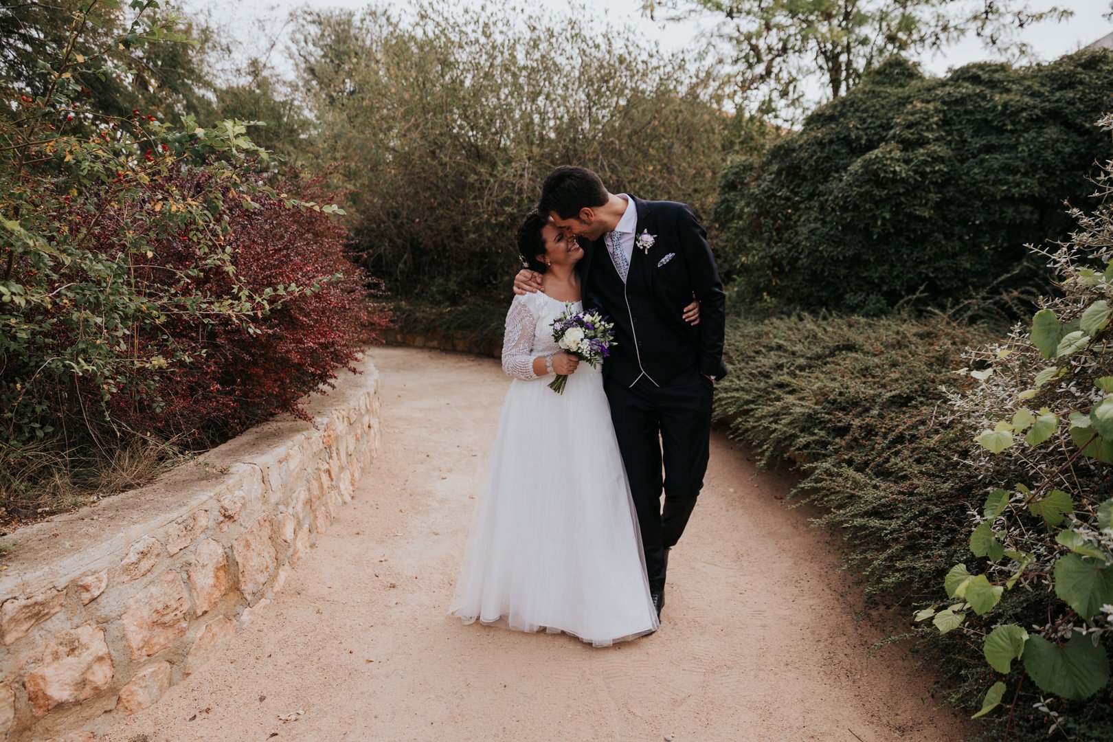
[(632, 30), (446, 2), (303, 23), (317, 157), (338, 162), (353, 239), (404, 299), (505, 300), (514, 230), (558, 165), (707, 214), (743, 118), (710, 72)]

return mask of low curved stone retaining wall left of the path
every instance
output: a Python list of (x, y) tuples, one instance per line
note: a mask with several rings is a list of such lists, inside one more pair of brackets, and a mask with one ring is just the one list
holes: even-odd
[(378, 372), (149, 486), (0, 538), (0, 740), (92, 740), (278, 593), (380, 445)]

